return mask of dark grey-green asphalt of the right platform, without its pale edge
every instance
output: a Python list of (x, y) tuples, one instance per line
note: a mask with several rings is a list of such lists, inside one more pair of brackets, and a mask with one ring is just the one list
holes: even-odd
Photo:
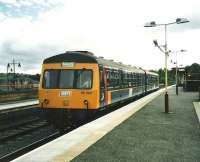
[(146, 105), (72, 162), (139, 161), (199, 162), (200, 126), (193, 107), (198, 94), (170, 90), (171, 114), (164, 96)]

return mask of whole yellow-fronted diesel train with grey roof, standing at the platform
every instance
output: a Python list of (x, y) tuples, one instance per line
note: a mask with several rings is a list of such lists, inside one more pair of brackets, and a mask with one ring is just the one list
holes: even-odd
[(68, 51), (44, 60), (39, 103), (50, 122), (65, 127), (158, 88), (156, 73), (88, 51)]

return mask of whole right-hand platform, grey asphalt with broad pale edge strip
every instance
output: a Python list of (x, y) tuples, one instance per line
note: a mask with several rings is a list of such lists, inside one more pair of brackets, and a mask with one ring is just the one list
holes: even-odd
[(160, 90), (13, 161), (199, 161), (198, 94), (179, 90), (169, 89), (169, 114)]

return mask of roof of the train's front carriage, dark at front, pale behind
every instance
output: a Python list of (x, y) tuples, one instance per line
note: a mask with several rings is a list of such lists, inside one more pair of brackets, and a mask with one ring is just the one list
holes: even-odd
[(107, 68), (125, 69), (131, 72), (145, 73), (144, 70), (130, 65), (122, 64), (121, 62), (114, 62), (103, 57), (96, 57), (93, 53), (88, 51), (67, 51), (66, 53), (58, 54), (49, 57), (43, 61), (43, 64), (61, 63), (61, 62), (77, 62), (77, 63), (98, 63), (103, 64)]

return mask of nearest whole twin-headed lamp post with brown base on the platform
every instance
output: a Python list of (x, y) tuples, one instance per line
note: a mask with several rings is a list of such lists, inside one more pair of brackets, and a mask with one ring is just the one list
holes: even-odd
[[(167, 23), (167, 24), (156, 24), (155, 21), (146, 23), (144, 27), (156, 27), (156, 26), (164, 26), (165, 27), (165, 45), (164, 45), (164, 53), (165, 53), (165, 113), (169, 113), (169, 96), (167, 92), (167, 26), (172, 24), (182, 24), (189, 22), (186, 18), (177, 18), (175, 22)], [(157, 41), (156, 41), (157, 42)], [(155, 43), (154, 43), (155, 44)], [(158, 44), (155, 44), (159, 49), (161, 49), (161, 46), (158, 46)], [(163, 50), (162, 50), (163, 51)]]

